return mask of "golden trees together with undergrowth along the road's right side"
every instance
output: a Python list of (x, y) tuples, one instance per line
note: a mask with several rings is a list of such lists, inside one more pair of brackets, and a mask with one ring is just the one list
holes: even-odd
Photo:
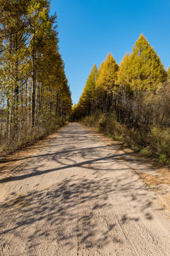
[(94, 65), (72, 120), (170, 164), (170, 68), (143, 34), (120, 65), (111, 53)]

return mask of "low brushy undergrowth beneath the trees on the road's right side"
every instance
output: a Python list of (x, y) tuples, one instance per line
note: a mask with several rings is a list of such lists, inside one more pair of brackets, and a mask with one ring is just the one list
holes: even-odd
[(164, 128), (154, 124), (147, 131), (130, 129), (125, 124), (120, 124), (115, 114), (100, 112), (91, 117), (84, 117), (80, 122), (88, 127), (94, 127), (115, 141), (125, 143), (145, 156), (170, 165), (170, 127)]

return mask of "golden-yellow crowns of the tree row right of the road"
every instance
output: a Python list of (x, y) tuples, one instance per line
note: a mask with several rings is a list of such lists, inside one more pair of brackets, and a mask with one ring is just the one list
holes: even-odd
[(84, 116), (98, 109), (104, 112), (114, 109), (120, 97), (122, 102), (125, 100), (123, 95), (133, 97), (138, 92), (155, 91), (166, 78), (159, 55), (141, 34), (132, 53), (125, 54), (120, 65), (111, 53), (98, 70), (94, 65), (74, 112), (76, 116)]

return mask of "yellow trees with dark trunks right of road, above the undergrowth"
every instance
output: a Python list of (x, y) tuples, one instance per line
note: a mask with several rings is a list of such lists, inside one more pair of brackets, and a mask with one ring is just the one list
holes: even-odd
[[(169, 85), (166, 83), (169, 70), (166, 72), (159, 55), (141, 34), (132, 53), (125, 54), (120, 66), (108, 53), (98, 69), (93, 94), (89, 75), (73, 115), (80, 118), (96, 112), (111, 112), (120, 122), (135, 129), (149, 129), (155, 122), (163, 124), (169, 116)], [(166, 107), (160, 103), (163, 92), (168, 94), (162, 100)], [(90, 102), (93, 102), (93, 111), (89, 111)]]

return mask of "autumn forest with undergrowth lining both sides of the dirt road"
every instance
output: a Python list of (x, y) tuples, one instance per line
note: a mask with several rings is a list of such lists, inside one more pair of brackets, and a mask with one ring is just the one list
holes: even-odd
[(0, 153), (78, 121), (170, 164), (170, 68), (143, 34), (120, 65), (108, 53), (79, 102), (64, 73), (50, 0), (0, 0)]

